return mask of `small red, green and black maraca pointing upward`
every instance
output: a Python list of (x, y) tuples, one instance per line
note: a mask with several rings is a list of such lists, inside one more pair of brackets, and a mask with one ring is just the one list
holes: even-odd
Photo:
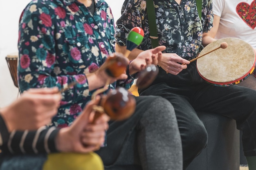
[(134, 27), (130, 30), (126, 39), (126, 51), (124, 56), (128, 57), (130, 52), (135, 49), (142, 42), (144, 38), (144, 31), (140, 27)]

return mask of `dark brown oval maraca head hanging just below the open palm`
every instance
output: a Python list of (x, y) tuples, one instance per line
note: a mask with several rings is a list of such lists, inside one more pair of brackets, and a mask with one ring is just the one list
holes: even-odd
[(148, 65), (143, 71), (140, 72), (136, 85), (138, 88), (148, 87), (157, 76), (159, 69), (154, 64)]

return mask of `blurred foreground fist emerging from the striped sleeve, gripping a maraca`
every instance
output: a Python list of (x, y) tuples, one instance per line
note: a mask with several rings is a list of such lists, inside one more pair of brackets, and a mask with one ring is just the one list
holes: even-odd
[(109, 117), (103, 113), (93, 122), (93, 105), (99, 104), (100, 97), (89, 102), (70, 127), (62, 128), (56, 137), (56, 147), (61, 152), (87, 153), (98, 150), (105, 140)]

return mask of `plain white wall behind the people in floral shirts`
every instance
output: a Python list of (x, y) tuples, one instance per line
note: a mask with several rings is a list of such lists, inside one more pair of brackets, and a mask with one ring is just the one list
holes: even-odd
[[(29, 2), (30, 0), (0, 0), (0, 107), (7, 106), (18, 96), (18, 88), (13, 84), (5, 57), (18, 51), (18, 20)], [(114, 18), (119, 18), (124, 0), (106, 2), (110, 5)]]

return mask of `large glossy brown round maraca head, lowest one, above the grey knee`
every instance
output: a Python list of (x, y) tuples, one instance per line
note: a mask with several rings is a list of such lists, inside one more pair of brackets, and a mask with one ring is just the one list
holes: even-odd
[(102, 96), (101, 104), (112, 120), (124, 120), (130, 117), (136, 108), (135, 98), (125, 88), (119, 87)]

